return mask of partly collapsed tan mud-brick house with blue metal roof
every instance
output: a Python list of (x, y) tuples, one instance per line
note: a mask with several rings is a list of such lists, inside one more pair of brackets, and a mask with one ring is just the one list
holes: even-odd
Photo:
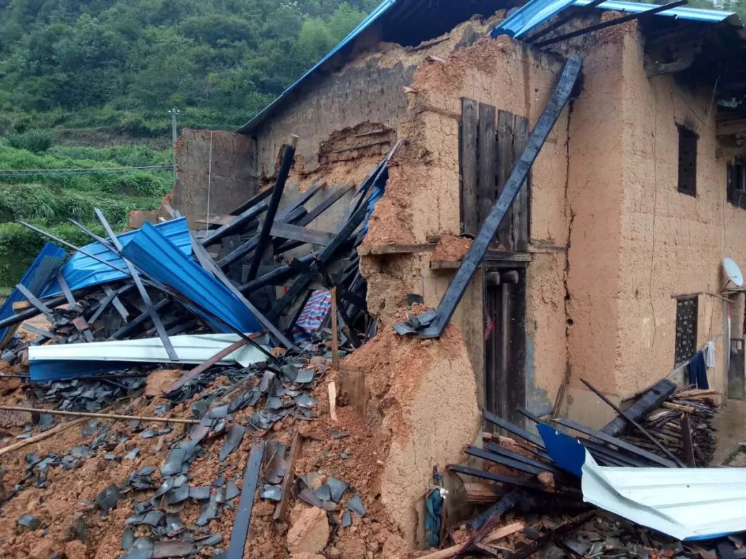
[[(385, 1), (236, 133), (184, 130), (177, 144), (171, 203), (203, 227), (271, 185), (298, 135), (288, 188), (339, 192), (310, 224), (324, 231), (402, 142), (358, 250), (392, 354), (354, 354), (399, 370), (369, 393), (384, 423), (401, 408), (390, 429), (409, 429), (381, 490), (402, 524), (432, 467), (473, 439), (479, 407), (601, 426), (614, 412), (580, 379), (620, 402), (666, 376), (688, 382), (682, 365), (706, 347), (709, 385), (743, 395), (744, 296), (722, 267), (746, 265), (742, 25), (623, 1), (518, 4)], [(574, 98), (478, 262), (457, 329), (410, 355), (391, 326), (413, 294), (439, 305), (570, 55), (582, 57)]]

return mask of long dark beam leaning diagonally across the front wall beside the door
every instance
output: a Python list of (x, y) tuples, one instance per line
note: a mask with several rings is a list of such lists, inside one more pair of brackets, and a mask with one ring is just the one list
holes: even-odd
[(430, 326), (418, 332), (420, 338), (439, 338), (448, 321), (454, 315), (468, 283), (482, 263), (489, 244), (495, 238), (495, 233), (498, 232), (500, 224), (510, 210), (521, 185), (527, 179), (531, 166), (536, 160), (536, 156), (539, 155), (539, 150), (546, 142), (554, 124), (560, 118), (560, 113), (569, 101), (577, 77), (580, 75), (581, 66), (583, 66), (583, 59), (577, 55), (571, 56), (565, 63), (557, 87), (544, 108), (542, 116), (539, 117), (539, 121), (536, 122), (536, 126), (531, 131), (521, 157), (513, 166), (513, 171), (510, 172), (510, 177), (508, 177), (498, 199), (495, 201), (495, 205), (492, 206), (492, 210), (484, 220), (477, 237), (471, 243), (466, 256), (464, 256), (454, 280), (451, 285), (448, 285), (448, 290), (445, 291), (445, 295), (440, 300), (436, 318), (430, 323)]

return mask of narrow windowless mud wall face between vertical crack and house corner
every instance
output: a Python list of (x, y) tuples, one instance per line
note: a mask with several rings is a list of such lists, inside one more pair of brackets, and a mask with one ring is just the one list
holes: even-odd
[(569, 243), (566, 288), (568, 414), (598, 426), (608, 408), (587, 379), (616, 394), (620, 323), (621, 177), (624, 97), (621, 43), (601, 42), (583, 58), (583, 89), (572, 104), (566, 188)]

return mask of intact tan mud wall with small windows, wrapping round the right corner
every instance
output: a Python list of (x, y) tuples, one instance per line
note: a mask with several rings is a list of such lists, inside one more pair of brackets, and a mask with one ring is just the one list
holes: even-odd
[[(590, 426), (613, 412), (578, 379), (619, 401), (674, 370), (677, 295), (699, 294), (697, 347), (715, 340), (709, 382), (724, 387), (724, 302), (708, 293), (724, 285), (724, 256), (746, 265), (712, 90), (648, 78), (636, 25), (614, 30), (586, 54), (571, 118), (568, 402)], [(677, 124), (699, 135), (696, 197), (677, 190)]]

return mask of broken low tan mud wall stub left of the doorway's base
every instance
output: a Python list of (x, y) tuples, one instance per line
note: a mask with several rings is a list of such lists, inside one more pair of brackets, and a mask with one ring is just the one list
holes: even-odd
[(367, 423), (388, 441), (380, 449), (378, 498), (409, 546), (421, 547), (422, 498), (433, 467), (453, 490), (445, 467), (466, 458), (464, 446), (480, 428), (477, 385), (462, 334), (450, 324), (438, 340), (420, 340), (386, 326), (345, 362), (365, 370)]

